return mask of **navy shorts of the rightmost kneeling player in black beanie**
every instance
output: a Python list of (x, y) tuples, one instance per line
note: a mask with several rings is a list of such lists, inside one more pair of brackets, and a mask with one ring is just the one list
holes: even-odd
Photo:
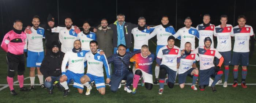
[(215, 67), (206, 70), (199, 70), (199, 85), (209, 85), (210, 77), (215, 77)]

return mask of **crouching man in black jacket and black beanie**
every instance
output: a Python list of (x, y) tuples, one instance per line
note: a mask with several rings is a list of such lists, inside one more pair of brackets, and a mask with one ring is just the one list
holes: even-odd
[[(48, 51), (44, 60), (42, 61), (40, 71), (45, 77), (45, 87), (48, 88), (49, 94), (53, 94), (53, 83), (59, 81), (61, 77), (61, 63), (63, 61), (64, 53), (59, 50), (59, 43), (52, 43), (52, 50)], [(56, 87), (61, 90), (59, 83)]]

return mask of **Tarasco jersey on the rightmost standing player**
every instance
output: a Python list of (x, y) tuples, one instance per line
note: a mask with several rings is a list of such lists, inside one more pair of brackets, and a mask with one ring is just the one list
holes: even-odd
[(233, 28), (233, 33), (231, 36), (235, 36), (235, 43), (234, 43), (234, 52), (250, 52), (249, 49), (249, 41), (250, 36), (253, 36), (253, 29), (252, 26), (245, 25), (245, 27), (240, 28), (239, 26), (235, 26)]

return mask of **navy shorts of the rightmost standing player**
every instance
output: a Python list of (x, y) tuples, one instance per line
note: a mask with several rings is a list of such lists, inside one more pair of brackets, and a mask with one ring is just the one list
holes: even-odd
[(233, 52), (232, 65), (248, 66), (249, 65), (249, 52)]

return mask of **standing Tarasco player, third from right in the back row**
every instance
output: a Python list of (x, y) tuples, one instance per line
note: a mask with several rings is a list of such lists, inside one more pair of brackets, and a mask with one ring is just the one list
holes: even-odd
[[(204, 38), (210, 37), (213, 40), (213, 34), (215, 26), (210, 24), (211, 16), (209, 14), (205, 14), (203, 16), (203, 23), (198, 25), (196, 29), (199, 32), (199, 46), (204, 46)], [(212, 41), (211, 48), (214, 48), (214, 42)]]

